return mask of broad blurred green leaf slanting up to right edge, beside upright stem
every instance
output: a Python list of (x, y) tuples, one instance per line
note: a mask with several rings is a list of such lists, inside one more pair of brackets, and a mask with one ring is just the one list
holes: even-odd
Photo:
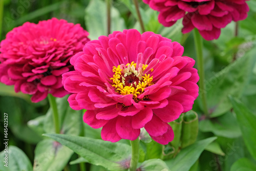
[(251, 79), (256, 61), (255, 52), (256, 50), (251, 50), (206, 81), (208, 107), (214, 111), (211, 117), (223, 115), (231, 109), (228, 95), (241, 97)]

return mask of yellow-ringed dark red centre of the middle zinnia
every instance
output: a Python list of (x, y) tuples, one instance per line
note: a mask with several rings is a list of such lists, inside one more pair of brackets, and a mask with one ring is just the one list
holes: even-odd
[[(115, 88), (115, 92), (121, 95), (133, 94), (134, 101), (139, 101), (138, 95), (144, 92), (144, 89), (153, 85), (153, 76), (150, 74), (144, 74), (143, 71), (147, 68), (147, 65), (139, 64), (136, 69), (137, 63), (127, 63), (113, 67), (113, 77), (110, 78), (113, 83), (112, 87)], [(152, 69), (153, 71), (153, 69)]]

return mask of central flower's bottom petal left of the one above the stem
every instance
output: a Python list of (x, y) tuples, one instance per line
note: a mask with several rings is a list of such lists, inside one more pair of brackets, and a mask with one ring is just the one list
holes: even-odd
[(110, 120), (101, 130), (101, 138), (104, 141), (117, 142), (121, 137), (116, 132), (116, 119)]

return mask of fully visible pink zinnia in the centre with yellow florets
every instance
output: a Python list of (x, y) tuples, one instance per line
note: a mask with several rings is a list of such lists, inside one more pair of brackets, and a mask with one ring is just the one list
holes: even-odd
[(88, 42), (62, 75), (83, 121), (102, 127), (103, 140), (135, 140), (142, 127), (161, 144), (174, 138), (167, 122), (191, 110), (198, 96), (195, 61), (182, 56), (178, 42), (153, 32), (115, 31)]

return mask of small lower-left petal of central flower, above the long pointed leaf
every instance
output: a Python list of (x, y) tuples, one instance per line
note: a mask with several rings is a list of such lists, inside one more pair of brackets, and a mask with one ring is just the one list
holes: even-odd
[(94, 129), (98, 129), (98, 128), (104, 126), (106, 123), (108, 123), (108, 120), (97, 119), (95, 117), (96, 114), (97, 114), (96, 111), (86, 111), (83, 114), (83, 121), (85, 123), (89, 124)]

